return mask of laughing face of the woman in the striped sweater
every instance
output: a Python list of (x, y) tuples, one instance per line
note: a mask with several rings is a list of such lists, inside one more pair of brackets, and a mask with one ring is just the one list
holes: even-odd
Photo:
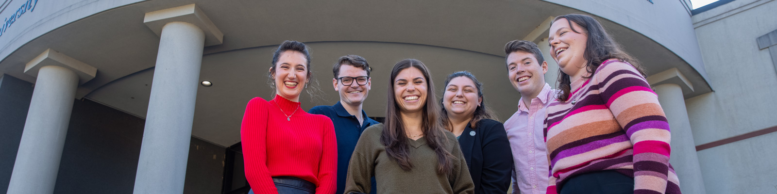
[[(575, 33), (575, 31), (579, 33)], [(548, 43), (550, 43), (550, 56), (556, 63), (559, 64), (559, 68), (565, 74), (569, 74), (572, 78), (581, 76), (581, 73), (585, 71), (585, 49), (587, 43), (587, 33), (577, 25), (566, 19), (559, 19), (550, 26), (550, 34), (548, 36)]]

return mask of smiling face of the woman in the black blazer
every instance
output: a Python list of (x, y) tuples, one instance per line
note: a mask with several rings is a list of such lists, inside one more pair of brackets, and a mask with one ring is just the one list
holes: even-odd
[(461, 76), (452, 78), (445, 86), (442, 105), (450, 117), (472, 118), (483, 99), (472, 79)]

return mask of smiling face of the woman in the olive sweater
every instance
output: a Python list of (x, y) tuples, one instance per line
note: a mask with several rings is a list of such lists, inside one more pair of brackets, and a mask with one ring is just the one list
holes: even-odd
[(417, 113), (423, 111), (427, 102), (427, 78), (418, 68), (411, 67), (399, 71), (394, 78), (394, 100), (399, 113)]

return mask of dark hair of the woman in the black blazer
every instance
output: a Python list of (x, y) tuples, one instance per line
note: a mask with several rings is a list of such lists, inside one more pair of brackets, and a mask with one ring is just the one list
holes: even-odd
[[(451, 83), (451, 79), (458, 77), (465, 77), (469, 78), (469, 80), (472, 80), (472, 82), (475, 83), (475, 88), (478, 90), (478, 97), (483, 99), (480, 101), (480, 106), (475, 108), (475, 113), (472, 114), (472, 120), (469, 120), (469, 125), (474, 129), (477, 127), (476, 124), (480, 122), (480, 120), (497, 120), (497, 116), (494, 116), (493, 110), (486, 106), (486, 99), (483, 98), (483, 83), (478, 81), (478, 79), (475, 78), (475, 75), (469, 71), (456, 71), (452, 74), (448, 74), (448, 78), (445, 78), (445, 86), (442, 92), (443, 95), (446, 91), (445, 88), (448, 88), (448, 84)], [(442, 126), (444, 126), (446, 130), (453, 132), (453, 123), (451, 123), (451, 120), (448, 120), (448, 110), (445, 109), (445, 106), (442, 105), (442, 102), (443, 99), (440, 99), (440, 107), (442, 108), (442, 111), (440, 112), (442, 115)]]

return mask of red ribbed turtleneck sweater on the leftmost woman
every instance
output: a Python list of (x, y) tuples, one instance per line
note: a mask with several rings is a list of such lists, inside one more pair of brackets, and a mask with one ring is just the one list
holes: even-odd
[(275, 176), (305, 179), (316, 185), (315, 193), (335, 192), (337, 141), (332, 120), (305, 113), (299, 106), (280, 95), (269, 102), (259, 97), (248, 102), (240, 139), (253, 192), (278, 193)]

